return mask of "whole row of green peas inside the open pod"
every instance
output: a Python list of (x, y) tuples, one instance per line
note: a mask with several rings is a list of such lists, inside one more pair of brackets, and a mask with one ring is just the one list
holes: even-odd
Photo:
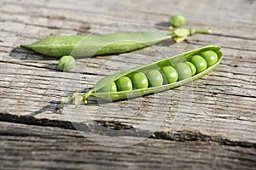
[(205, 71), (218, 61), (218, 54), (212, 50), (191, 55), (187, 61), (177, 62), (152, 70), (133, 72), (98, 89), (97, 93), (121, 92), (141, 88), (158, 87), (163, 84), (182, 81)]

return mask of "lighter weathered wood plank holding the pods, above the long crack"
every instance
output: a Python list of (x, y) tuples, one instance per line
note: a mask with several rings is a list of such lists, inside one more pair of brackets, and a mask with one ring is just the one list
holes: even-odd
[[(148, 111), (152, 105), (159, 107), (162, 105), (163, 107), (157, 108), (156, 112), (151, 111), (150, 114), (148, 111), (148, 115), (152, 117), (155, 116), (154, 114), (160, 115), (160, 118), (148, 121), (149, 125), (152, 122), (155, 122), (156, 127), (161, 125), (158, 132), (172, 132), (179, 127), (184, 131), (192, 129), (207, 135), (216, 134), (232, 141), (255, 142), (256, 137), (253, 135), (256, 132), (256, 117), (253, 114), (256, 107), (255, 31), (253, 31), (255, 3), (241, 0), (232, 3), (217, 1), (212, 8), (212, 2), (206, 2), (147, 1), (134, 5), (132, 1), (123, 3), (105, 1), (100, 7), (98, 2), (92, 1), (78, 1), (80, 5), (73, 1), (64, 1), (61, 2), (63, 4), (61, 6), (58, 1), (2, 2), (0, 8), (2, 11), (0, 16), (1, 113), (7, 113), (10, 117), (34, 116), (38, 119), (75, 122), (111, 120), (140, 129), (143, 128), (140, 123), (147, 120), (147, 116), (131, 116), (129, 111), (128, 113), (122, 111), (123, 115), (119, 115), (115, 111), (120, 109), (127, 111), (131, 105), (136, 105), (132, 111), (140, 107), (139, 113), (142, 113)], [(209, 7), (212, 13), (203, 14)], [(233, 8), (237, 7), (240, 12), (236, 11), (235, 14)], [(101, 10), (96, 13), (95, 8)], [(189, 10), (183, 11), (182, 8)], [(124, 9), (125, 13), (123, 13)], [(188, 43), (171, 47), (169, 45), (172, 42), (165, 42), (130, 54), (79, 59), (74, 72), (64, 74), (55, 70), (57, 59), (15, 48), (20, 43), (34, 42), (50, 35), (137, 31), (151, 29), (152, 26), (166, 30), (168, 26), (166, 21), (174, 11), (182, 12), (187, 16), (188, 26), (211, 26), (215, 34), (189, 37)], [(202, 19), (209, 20), (201, 22)], [(120, 21), (136, 22), (146, 26), (122, 26), (122, 24), (109, 26)], [(229, 25), (226, 24), (227, 21)], [(72, 108), (67, 108), (64, 113), (56, 111), (56, 101), (61, 95), (71, 93), (75, 89), (90, 88), (96, 80), (115, 71), (160, 59), (163, 56), (158, 51), (173, 55), (210, 42), (224, 47), (224, 59), (221, 65), (209, 76), (186, 87), (174, 89), (168, 92), (168, 95), (160, 93), (143, 99), (119, 102), (115, 104), (119, 110), (111, 110), (113, 105), (100, 104), (99, 107), (93, 104), (79, 107), (79, 113), (83, 113), (84, 116), (74, 114), (78, 111)], [(172, 96), (171, 103), (170, 99), (168, 100), (169, 95)], [(163, 97), (164, 102), (160, 100)], [(50, 104), (50, 101), (53, 103)], [(110, 111), (102, 116), (98, 114), (101, 108)], [(75, 115), (80, 117), (80, 120)], [(178, 117), (179, 119), (176, 119)], [(152, 131), (154, 133), (154, 129)]]

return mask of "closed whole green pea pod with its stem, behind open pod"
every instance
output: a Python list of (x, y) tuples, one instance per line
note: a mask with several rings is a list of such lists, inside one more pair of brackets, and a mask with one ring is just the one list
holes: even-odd
[(166, 33), (153, 31), (119, 32), (107, 35), (90, 36), (53, 36), (46, 37), (38, 42), (28, 45), (21, 45), (23, 48), (30, 48), (40, 54), (53, 57), (72, 55), (74, 57), (121, 54), (140, 48), (145, 48), (157, 42), (172, 38), (181, 42), (188, 36), (195, 33), (211, 33), (209, 30), (195, 30), (192, 28), (171, 29)]

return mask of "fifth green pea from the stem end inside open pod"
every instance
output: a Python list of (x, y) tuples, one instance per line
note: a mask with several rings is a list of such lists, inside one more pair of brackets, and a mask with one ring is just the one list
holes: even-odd
[(172, 66), (165, 66), (161, 69), (164, 77), (164, 83), (177, 82), (177, 71)]

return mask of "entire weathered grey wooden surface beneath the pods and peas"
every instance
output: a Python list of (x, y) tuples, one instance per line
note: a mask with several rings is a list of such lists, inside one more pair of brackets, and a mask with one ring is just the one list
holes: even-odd
[[(84, 163), (89, 164), (88, 168), (120, 165), (120, 169), (255, 167), (254, 8), (256, 2), (251, 0), (1, 1), (0, 137), (3, 142), (0, 151), (6, 154), (3, 154), (1, 164), (24, 169), (46, 169), (47, 163), (52, 163), (52, 169), (60, 169), (58, 161), (63, 163), (61, 168), (73, 169), (83, 169)], [(20, 44), (51, 35), (166, 31), (172, 14), (184, 14), (188, 20), (186, 27), (209, 28), (213, 33), (195, 35), (179, 44), (173, 44), (171, 40), (160, 42), (127, 54), (77, 59), (75, 69), (64, 73), (56, 70), (58, 59), (20, 48)], [(102, 77), (209, 43), (222, 47), (224, 59), (215, 71), (200, 80), (143, 98), (116, 103), (91, 98), (90, 105), (80, 105), (77, 109), (69, 105), (60, 109), (61, 96), (72, 94), (75, 89), (88, 90)], [(32, 137), (19, 130), (20, 127), (31, 132)], [(68, 130), (73, 128), (80, 132), (89, 129), (92, 136), (103, 135), (93, 138), (96, 142), (112, 144), (117, 139), (117, 144), (136, 145), (119, 149), (112, 158), (113, 149), (106, 150), (88, 141), (80, 145), (80, 140), (85, 139)], [(38, 129), (37, 133), (33, 129)], [(52, 139), (40, 137), (41, 131), (42, 136), (54, 135), (52, 131), (56, 129), (61, 136), (72, 135), (64, 141), (58, 136)], [(24, 143), (20, 142), (22, 133)], [(39, 142), (41, 139), (44, 143), (51, 141), (53, 150), (43, 150), (46, 146)], [(129, 143), (130, 139), (134, 143)], [(146, 142), (142, 142), (143, 139), (147, 139)], [(54, 145), (54, 141), (60, 142), (59, 146)], [(9, 148), (9, 142), (15, 147)], [(21, 149), (20, 144), (25, 148)], [(36, 151), (37, 156), (33, 156), (28, 147), (33, 144), (36, 150), (43, 152)], [(67, 144), (78, 146), (74, 150), (67, 149)], [(81, 152), (80, 146), (83, 148)], [(61, 147), (66, 148), (63, 155), (58, 151)], [(98, 149), (90, 150), (90, 147)], [(161, 154), (157, 153), (158, 149)], [(7, 154), (6, 150), (11, 152)], [(196, 150), (200, 151), (196, 153)], [(43, 156), (38, 156), (40, 154)], [(68, 161), (72, 156), (79, 157), (79, 161)], [(131, 160), (131, 156), (137, 157), (138, 164)], [(200, 161), (196, 160), (198, 156)], [(90, 161), (84, 161), (87, 158)], [(18, 159), (26, 161), (14, 164)], [(170, 165), (168, 160), (177, 163)]]

